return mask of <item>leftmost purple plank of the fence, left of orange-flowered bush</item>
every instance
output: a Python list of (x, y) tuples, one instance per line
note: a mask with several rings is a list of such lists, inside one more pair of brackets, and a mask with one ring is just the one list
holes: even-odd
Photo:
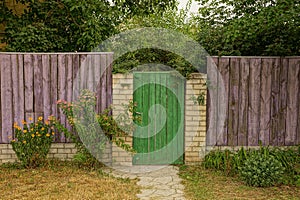
[(13, 89), (12, 66), (10, 55), (1, 55), (1, 143), (8, 143), (12, 137), (13, 124)]

